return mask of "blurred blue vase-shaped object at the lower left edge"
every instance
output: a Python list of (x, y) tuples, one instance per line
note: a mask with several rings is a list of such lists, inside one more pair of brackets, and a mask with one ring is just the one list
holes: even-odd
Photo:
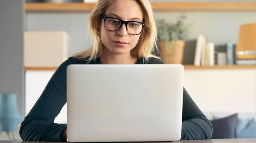
[[(9, 133), (17, 132), (17, 126), (23, 120), (16, 102), (16, 93), (0, 93), (0, 132), (6, 132), (9, 139)], [(12, 136), (15, 138), (14, 134)]]

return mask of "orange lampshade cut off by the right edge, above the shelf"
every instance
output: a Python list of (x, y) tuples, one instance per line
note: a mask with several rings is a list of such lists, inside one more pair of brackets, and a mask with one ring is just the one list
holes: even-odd
[(256, 23), (248, 23), (240, 26), (236, 53), (238, 59), (255, 59)]

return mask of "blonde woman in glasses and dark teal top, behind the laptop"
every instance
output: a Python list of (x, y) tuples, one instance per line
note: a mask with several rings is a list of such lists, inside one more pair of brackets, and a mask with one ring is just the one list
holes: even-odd
[[(124, 21), (123, 21), (124, 20)], [(63, 62), (20, 127), (22, 140), (66, 141), (66, 124), (54, 123), (66, 104), (69, 64), (165, 64), (151, 52), (157, 28), (148, 0), (98, 0), (89, 17), (93, 46)], [(211, 122), (183, 90), (180, 140), (209, 139)]]

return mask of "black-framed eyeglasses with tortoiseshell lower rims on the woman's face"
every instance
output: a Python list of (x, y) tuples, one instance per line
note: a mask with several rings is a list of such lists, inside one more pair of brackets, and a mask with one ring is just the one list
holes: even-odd
[(102, 14), (104, 19), (105, 29), (108, 31), (118, 31), (123, 24), (125, 24), (126, 30), (131, 35), (139, 35), (142, 32), (143, 27), (145, 26), (144, 22), (138, 21), (124, 21), (118, 18), (105, 17)]

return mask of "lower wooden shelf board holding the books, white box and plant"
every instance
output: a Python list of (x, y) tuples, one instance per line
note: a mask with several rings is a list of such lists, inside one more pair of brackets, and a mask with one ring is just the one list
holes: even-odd
[[(58, 67), (25, 67), (25, 71), (54, 71)], [(185, 70), (256, 69), (256, 65), (194, 66), (184, 65)]]

